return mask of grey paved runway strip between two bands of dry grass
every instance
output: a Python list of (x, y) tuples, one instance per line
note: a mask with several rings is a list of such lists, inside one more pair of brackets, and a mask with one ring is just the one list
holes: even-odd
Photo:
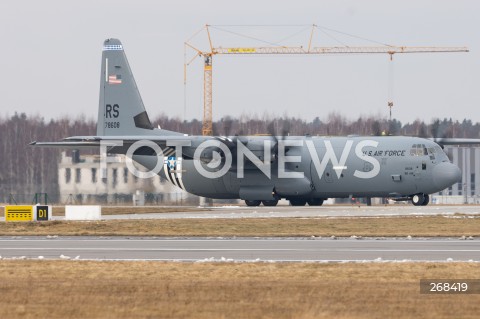
[(4, 237), (1, 258), (164, 261), (480, 262), (480, 240)]

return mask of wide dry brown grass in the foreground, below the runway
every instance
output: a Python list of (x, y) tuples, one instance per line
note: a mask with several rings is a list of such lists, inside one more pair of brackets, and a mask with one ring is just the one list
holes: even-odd
[(478, 318), (480, 295), (424, 295), (421, 278), (475, 263), (0, 261), (1, 318)]

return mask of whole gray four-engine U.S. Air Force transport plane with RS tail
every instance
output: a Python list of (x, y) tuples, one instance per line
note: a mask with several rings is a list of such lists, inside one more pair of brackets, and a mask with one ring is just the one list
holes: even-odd
[[(97, 134), (36, 146), (100, 147), (199, 196), (248, 206), (322, 205), (327, 198), (388, 197), (427, 205), (429, 194), (461, 180), (432, 140), (405, 136), (188, 136), (154, 128), (123, 45), (103, 45)], [(105, 156), (106, 161), (108, 157)], [(130, 160), (130, 162), (128, 162)]]

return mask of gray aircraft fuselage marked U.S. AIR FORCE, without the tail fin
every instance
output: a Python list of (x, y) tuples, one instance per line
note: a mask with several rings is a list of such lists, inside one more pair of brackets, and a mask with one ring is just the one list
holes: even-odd
[[(245, 137), (243, 144), (262, 145), (271, 137)], [(451, 164), (434, 142), (415, 137), (287, 137), (284, 153), (258, 163), (241, 156), (244, 168), (233, 156), (232, 164), (218, 177), (208, 172), (208, 161), (166, 157), (159, 174), (185, 191), (209, 198), (272, 200), (278, 198), (402, 197), (441, 191), (460, 178), (460, 170)], [(292, 146), (294, 144), (294, 146)], [(183, 148), (188, 153), (188, 147)], [(190, 152), (191, 153), (191, 152)], [(262, 158), (260, 153), (255, 153)], [(259, 155), (260, 154), (260, 155)], [(282, 159), (283, 157), (283, 159)], [(157, 156), (134, 155), (148, 169), (157, 165)], [(177, 166), (168, 165), (174, 162)], [(181, 162), (180, 165), (179, 162)], [(196, 162), (196, 163), (195, 163)], [(240, 170), (242, 173), (240, 173)], [(243, 175), (243, 176), (242, 176)]]

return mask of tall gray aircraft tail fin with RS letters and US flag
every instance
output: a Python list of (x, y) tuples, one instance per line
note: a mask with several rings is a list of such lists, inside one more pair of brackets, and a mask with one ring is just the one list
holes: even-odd
[(103, 43), (97, 136), (141, 135), (153, 130), (123, 45)]

